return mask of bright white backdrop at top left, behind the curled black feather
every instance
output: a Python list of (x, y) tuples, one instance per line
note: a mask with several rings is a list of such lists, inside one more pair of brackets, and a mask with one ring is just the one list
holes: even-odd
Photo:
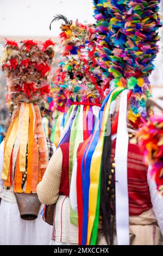
[(55, 14), (90, 23), (92, 7), (92, 0), (0, 0), (0, 36), (58, 36), (61, 22), (49, 31)]

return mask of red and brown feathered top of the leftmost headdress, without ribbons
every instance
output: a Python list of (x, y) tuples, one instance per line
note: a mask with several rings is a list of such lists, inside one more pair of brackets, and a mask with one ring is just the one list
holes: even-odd
[(2, 58), (2, 70), (8, 78), (8, 100), (39, 103), (49, 93), (48, 75), (54, 57), (52, 40), (24, 40), (18, 45), (7, 40)]

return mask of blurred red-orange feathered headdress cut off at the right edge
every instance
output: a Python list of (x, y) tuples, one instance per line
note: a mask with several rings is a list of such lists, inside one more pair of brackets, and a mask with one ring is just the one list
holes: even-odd
[(144, 153), (145, 163), (151, 166), (149, 173), (154, 178), (158, 191), (163, 192), (163, 117), (153, 115), (141, 127), (136, 137)]

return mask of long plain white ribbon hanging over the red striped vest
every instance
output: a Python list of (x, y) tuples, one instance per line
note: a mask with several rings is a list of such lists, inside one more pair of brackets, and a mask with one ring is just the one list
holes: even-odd
[(118, 245), (129, 245), (129, 202), (127, 182), (128, 130), (127, 93), (121, 94), (115, 150), (116, 233)]

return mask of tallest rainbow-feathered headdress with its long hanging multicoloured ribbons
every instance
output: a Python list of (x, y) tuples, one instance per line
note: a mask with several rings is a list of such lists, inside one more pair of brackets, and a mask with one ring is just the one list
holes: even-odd
[[(123, 181), (127, 180), (127, 166), (123, 168), (123, 180), (119, 180), (118, 184), (115, 184), (114, 170), (110, 168), (111, 134), (107, 133), (111, 126), (110, 106), (117, 95), (124, 91), (121, 94), (120, 116), (119, 112), (117, 113), (120, 129), (118, 132), (116, 129), (116, 154), (119, 154), (119, 157), (115, 159), (115, 162), (118, 162), (118, 166), (120, 166), (120, 160), (122, 160), (121, 163), (127, 162), (127, 115), (129, 122), (135, 128), (143, 123), (141, 119), (147, 118), (148, 76), (154, 68), (152, 62), (158, 52), (156, 42), (159, 40), (158, 28), (160, 27), (159, 2), (146, 0), (94, 1), (99, 35), (97, 53), (106, 74), (109, 71), (112, 81), (110, 82), (110, 93), (102, 104), (95, 130), (80, 148), (78, 154), (77, 202), (79, 244), (82, 245), (96, 244), (100, 212), (105, 238), (108, 243), (112, 243), (113, 240), (114, 232), (111, 225), (114, 223), (114, 218), (111, 217), (111, 214), (114, 215), (115, 212), (115, 186), (116, 193), (120, 192), (118, 189), (124, 192), (124, 189), (121, 188), (124, 188)], [(127, 101), (129, 101), (128, 109)], [(119, 125), (120, 123), (121, 125)], [(116, 164), (116, 177), (118, 176), (118, 166)], [(109, 184), (107, 183), (108, 176), (111, 177)], [(125, 193), (127, 196), (123, 203), (127, 209), (127, 186), (125, 186)], [(118, 200), (117, 197), (116, 199)], [(110, 216), (108, 216), (109, 212), (111, 212)], [(120, 214), (121, 216), (117, 210), (116, 223), (122, 222), (123, 213)], [(120, 236), (121, 228), (119, 229), (120, 226), (117, 224), (118, 244), (129, 244), (128, 212), (125, 214), (124, 221), (127, 227), (125, 229), (127, 233), (124, 236)], [(124, 243), (121, 243), (122, 240)]]

